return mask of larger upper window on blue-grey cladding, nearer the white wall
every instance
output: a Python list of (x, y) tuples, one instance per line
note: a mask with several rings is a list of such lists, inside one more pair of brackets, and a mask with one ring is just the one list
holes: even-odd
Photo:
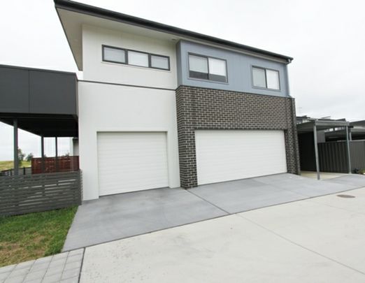
[(189, 54), (189, 77), (227, 82), (226, 60)]

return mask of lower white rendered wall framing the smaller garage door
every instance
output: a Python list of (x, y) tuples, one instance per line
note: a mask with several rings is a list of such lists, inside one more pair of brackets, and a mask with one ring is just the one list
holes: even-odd
[(169, 187), (180, 186), (174, 91), (79, 82), (78, 110), (84, 200), (99, 198), (98, 131), (166, 131)]

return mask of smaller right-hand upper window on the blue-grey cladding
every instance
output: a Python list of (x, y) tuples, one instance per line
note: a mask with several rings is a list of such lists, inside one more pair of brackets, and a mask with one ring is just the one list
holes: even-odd
[(279, 71), (276, 70), (252, 67), (252, 81), (254, 87), (280, 89)]

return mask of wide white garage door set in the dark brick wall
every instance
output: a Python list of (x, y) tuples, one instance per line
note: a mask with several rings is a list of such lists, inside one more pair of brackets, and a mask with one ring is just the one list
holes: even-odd
[(195, 131), (198, 184), (287, 172), (284, 131)]

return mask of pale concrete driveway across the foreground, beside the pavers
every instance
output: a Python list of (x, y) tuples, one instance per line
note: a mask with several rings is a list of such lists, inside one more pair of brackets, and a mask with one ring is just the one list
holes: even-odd
[(85, 249), (80, 282), (365, 282), (365, 188)]

